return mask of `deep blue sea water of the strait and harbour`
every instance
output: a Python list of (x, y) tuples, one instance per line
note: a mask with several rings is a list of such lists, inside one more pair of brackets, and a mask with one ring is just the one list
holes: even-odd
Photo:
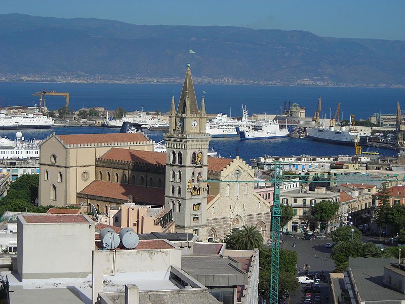
[[(322, 99), (322, 114), (327, 118), (334, 115), (340, 102), (341, 119), (354, 114), (357, 119), (367, 119), (374, 113), (396, 112), (396, 101), (405, 109), (405, 89), (392, 88), (336, 88), (336, 87), (280, 87), (280, 86), (234, 86), (194, 85), (197, 99), (204, 94), (206, 110), (209, 113), (227, 113), (241, 116), (242, 104), (252, 113), (279, 113), (285, 101), (306, 107), (306, 115), (312, 116), (318, 98)], [(0, 105), (39, 105), (32, 93), (42, 90), (69, 92), (70, 108), (102, 106), (115, 109), (118, 106), (127, 111), (168, 111), (172, 96), (178, 100), (182, 84), (75, 84), (75, 83), (0, 83)], [(203, 93), (204, 92), (204, 93)], [(65, 105), (63, 96), (47, 96), (49, 109)], [(0, 130), (2, 136), (15, 138), (15, 130)], [(114, 133), (118, 129), (103, 127), (56, 127), (51, 129), (21, 130), (26, 139), (45, 139), (56, 134)], [(157, 141), (163, 139), (162, 132), (145, 131)], [(317, 142), (309, 138), (278, 138), (268, 140), (240, 141), (238, 138), (213, 138), (210, 146), (222, 157), (238, 155), (249, 159), (270, 156), (313, 156), (353, 155), (354, 146)], [(370, 148), (370, 151), (373, 149)], [(374, 150), (373, 150), (374, 151)], [(394, 150), (379, 149), (380, 155), (393, 156)]]

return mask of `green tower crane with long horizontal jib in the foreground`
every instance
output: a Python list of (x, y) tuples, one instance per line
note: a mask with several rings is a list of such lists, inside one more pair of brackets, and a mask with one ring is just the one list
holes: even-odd
[[(354, 115), (351, 116), (354, 122)], [(273, 206), (271, 209), (272, 225), (271, 225), (271, 269), (270, 269), (270, 302), (269, 304), (278, 304), (278, 276), (279, 276), (279, 258), (280, 258), (280, 219), (281, 219), (281, 206), (280, 206), (280, 190), (283, 179), (296, 178), (295, 175), (284, 175), (282, 176), (282, 165), (290, 164), (288, 162), (273, 162), (270, 163), (274, 167), (274, 177), (269, 180), (269, 182), (274, 183), (274, 195), (273, 195)], [(325, 180), (331, 183), (339, 182), (342, 184), (349, 182), (404, 182), (405, 173), (402, 174), (388, 174), (388, 173), (349, 173), (349, 174), (326, 174), (325, 178), (319, 180), (316, 175), (308, 176), (306, 179), (300, 180), (301, 183), (311, 183), (311, 182), (325, 182)], [(201, 182), (225, 182), (225, 183), (257, 183), (255, 180), (217, 180), (217, 179), (207, 179), (200, 180)]]

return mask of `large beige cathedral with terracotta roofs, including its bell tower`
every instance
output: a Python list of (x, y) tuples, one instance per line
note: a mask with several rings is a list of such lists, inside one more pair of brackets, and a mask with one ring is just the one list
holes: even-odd
[(172, 97), (166, 154), (142, 133), (53, 134), (41, 145), (39, 204), (93, 204), (108, 213), (133, 202), (170, 211), (175, 231), (200, 241), (220, 241), (243, 225), (268, 241), (271, 206), (254, 189), (254, 170), (239, 157), (208, 157), (206, 123), (188, 65), (177, 108)]

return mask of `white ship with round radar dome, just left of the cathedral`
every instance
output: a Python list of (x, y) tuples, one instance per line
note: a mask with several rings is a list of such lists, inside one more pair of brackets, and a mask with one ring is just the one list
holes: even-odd
[(27, 159), (39, 157), (39, 141), (24, 140), (21, 132), (16, 133), (14, 141), (0, 137), (0, 159)]

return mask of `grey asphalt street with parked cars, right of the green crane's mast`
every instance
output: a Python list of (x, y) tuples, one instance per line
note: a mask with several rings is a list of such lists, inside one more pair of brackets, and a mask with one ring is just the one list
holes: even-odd
[[(297, 234), (303, 237), (303, 234)], [(293, 244), (296, 243), (294, 247)], [(301, 240), (292, 239), (291, 236), (284, 236), (284, 244), (280, 243), (280, 248), (287, 250), (294, 250), (298, 254), (298, 265), (297, 268), (301, 269), (301, 274), (303, 274), (304, 264), (310, 265), (309, 272), (325, 272), (325, 276), (329, 277), (329, 272), (335, 269), (335, 263), (331, 258), (332, 248), (326, 248), (326, 243), (332, 243), (332, 239), (313, 239), (313, 240)], [(305, 284), (301, 284), (298, 291), (291, 294), (289, 298), (286, 299), (288, 304), (298, 304), (302, 303), (305, 298), (304, 293)], [(321, 299), (322, 304), (329, 303), (329, 285), (328, 283), (321, 283)]]

